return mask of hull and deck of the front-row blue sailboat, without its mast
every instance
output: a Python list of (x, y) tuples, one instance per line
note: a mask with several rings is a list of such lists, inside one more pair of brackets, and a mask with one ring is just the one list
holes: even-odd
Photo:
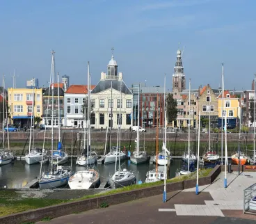
[(42, 173), (39, 179), (40, 189), (55, 189), (68, 184), (68, 180), (72, 176), (71, 167), (57, 166), (56, 170)]

